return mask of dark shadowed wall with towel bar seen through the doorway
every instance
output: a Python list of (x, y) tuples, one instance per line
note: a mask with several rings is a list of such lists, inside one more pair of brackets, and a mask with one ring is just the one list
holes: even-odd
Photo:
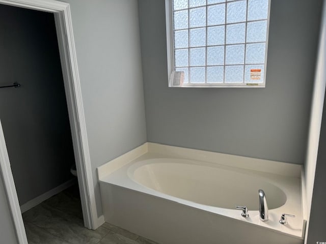
[(0, 5), (2, 121), (20, 205), (73, 176), (74, 163), (53, 14)]

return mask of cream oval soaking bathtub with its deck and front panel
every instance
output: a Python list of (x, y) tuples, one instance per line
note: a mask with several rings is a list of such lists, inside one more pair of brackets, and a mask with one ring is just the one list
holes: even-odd
[[(98, 168), (106, 222), (161, 244), (303, 243), (297, 166), (278, 172), (284, 165), (277, 162), (169, 148), (146, 144)], [(259, 220), (259, 189), (267, 198), (267, 222)], [(249, 218), (236, 205), (247, 206)], [(281, 225), (283, 213), (295, 218)]]

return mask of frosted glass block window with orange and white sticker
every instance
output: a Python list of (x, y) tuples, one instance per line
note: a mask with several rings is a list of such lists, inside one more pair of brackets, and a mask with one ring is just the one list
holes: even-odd
[(171, 0), (182, 86), (264, 86), (270, 0)]

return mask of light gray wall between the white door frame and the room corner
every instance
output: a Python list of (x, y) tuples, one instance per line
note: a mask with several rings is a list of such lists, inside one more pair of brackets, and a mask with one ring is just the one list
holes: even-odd
[(137, 0), (68, 0), (98, 215), (96, 167), (146, 142)]

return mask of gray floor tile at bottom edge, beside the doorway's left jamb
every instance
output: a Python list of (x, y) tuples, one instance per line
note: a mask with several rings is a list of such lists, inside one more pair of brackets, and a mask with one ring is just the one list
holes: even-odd
[(70, 244), (64, 239), (54, 236), (31, 223), (25, 223), (25, 230), (29, 244)]

